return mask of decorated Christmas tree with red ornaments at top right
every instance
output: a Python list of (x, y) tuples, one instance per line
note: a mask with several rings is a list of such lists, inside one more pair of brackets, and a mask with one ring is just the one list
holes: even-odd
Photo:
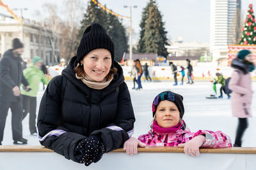
[(239, 45), (256, 45), (256, 25), (252, 4), (249, 5), (248, 14), (244, 20), (244, 27), (242, 28), (242, 36), (239, 39)]

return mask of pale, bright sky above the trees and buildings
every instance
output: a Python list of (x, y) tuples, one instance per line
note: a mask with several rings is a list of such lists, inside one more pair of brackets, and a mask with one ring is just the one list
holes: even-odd
[[(60, 15), (64, 16), (65, 13), (61, 11), (65, 0), (3, 0), (3, 3), (8, 4), (10, 8), (28, 8), (28, 11), (23, 12), (24, 18), (38, 20), (35, 11), (38, 10), (42, 15), (42, 4), (53, 3), (57, 4), (60, 8)], [(138, 8), (132, 9), (132, 28), (134, 29), (135, 38), (138, 38), (140, 32), (140, 20), (143, 8), (149, 0), (99, 0), (101, 4), (106, 4), (107, 8), (119, 13), (121, 15), (129, 16), (130, 11), (124, 8), (124, 5), (137, 5)], [(88, 0), (83, 0), (84, 11)], [(246, 15), (248, 4), (252, 0), (242, 0), (243, 15)], [(159, 10), (163, 15), (166, 31), (168, 31), (168, 38), (171, 40), (177, 39), (182, 36), (184, 41), (210, 41), (210, 0), (157, 0)], [(256, 1), (253, 3), (253, 9), (256, 11)], [(2, 8), (0, 13), (6, 13)], [(17, 11), (17, 15), (20, 12)], [(81, 19), (82, 19), (81, 15)], [(129, 20), (123, 20), (125, 26), (129, 26)]]

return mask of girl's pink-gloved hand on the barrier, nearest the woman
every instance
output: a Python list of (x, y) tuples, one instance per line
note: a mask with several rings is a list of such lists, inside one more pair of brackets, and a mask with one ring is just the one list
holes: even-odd
[(136, 138), (131, 137), (124, 143), (124, 150), (128, 155), (134, 155), (138, 153), (138, 146), (141, 148), (145, 148), (145, 143), (142, 143)]

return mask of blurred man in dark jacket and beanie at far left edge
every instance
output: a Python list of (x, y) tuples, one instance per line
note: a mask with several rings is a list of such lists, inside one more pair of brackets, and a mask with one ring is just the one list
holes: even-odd
[(9, 108), (12, 111), (12, 135), (14, 144), (26, 144), (22, 138), (22, 101), (20, 83), (29, 89), (28, 81), (22, 74), (23, 44), (19, 39), (12, 41), (13, 48), (7, 50), (0, 62), (0, 145), (2, 145), (4, 126)]

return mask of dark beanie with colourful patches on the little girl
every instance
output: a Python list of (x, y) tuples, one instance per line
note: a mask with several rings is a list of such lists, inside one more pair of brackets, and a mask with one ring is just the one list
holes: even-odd
[(183, 106), (183, 97), (179, 94), (170, 92), (170, 91), (165, 91), (161, 92), (161, 94), (158, 94), (152, 104), (152, 112), (153, 112), (153, 117), (156, 114), (157, 106), (161, 101), (172, 101), (173, 103), (176, 104), (179, 112), (180, 112), (180, 118), (182, 119), (184, 115), (184, 106)]

